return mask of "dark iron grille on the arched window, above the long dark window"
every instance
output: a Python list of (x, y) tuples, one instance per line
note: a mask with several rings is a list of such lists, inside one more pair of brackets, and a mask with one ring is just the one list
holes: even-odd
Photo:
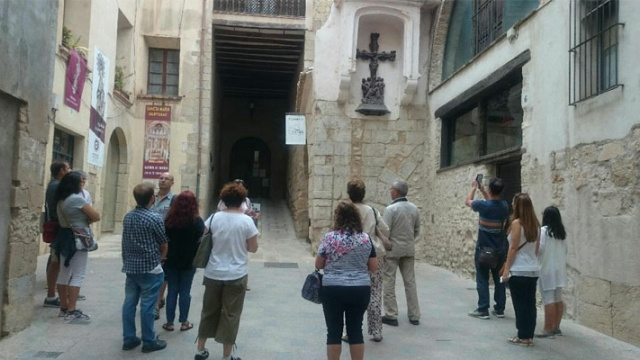
[(474, 53), (486, 49), (503, 33), (504, 0), (475, 0), (473, 15)]

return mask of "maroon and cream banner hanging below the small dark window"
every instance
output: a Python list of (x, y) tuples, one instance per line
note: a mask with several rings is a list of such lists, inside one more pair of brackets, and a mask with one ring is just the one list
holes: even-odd
[(169, 172), (171, 106), (147, 105), (144, 111), (144, 161), (142, 178), (157, 179)]

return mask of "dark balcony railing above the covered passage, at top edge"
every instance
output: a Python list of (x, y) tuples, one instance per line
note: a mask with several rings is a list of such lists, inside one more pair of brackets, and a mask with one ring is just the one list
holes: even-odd
[(304, 17), (305, 0), (214, 0), (213, 11)]

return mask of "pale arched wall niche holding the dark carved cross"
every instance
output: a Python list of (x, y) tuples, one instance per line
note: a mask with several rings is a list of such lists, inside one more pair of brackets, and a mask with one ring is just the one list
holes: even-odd
[[(353, 118), (398, 119), (416, 96), (425, 0), (343, 0), (316, 35), (316, 95)], [(423, 99), (424, 100), (424, 99)]]

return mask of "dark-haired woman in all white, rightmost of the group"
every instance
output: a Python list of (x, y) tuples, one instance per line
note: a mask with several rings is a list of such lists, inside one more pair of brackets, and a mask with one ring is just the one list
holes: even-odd
[(544, 331), (539, 338), (562, 335), (560, 321), (564, 312), (562, 289), (567, 286), (567, 234), (560, 211), (555, 206), (544, 209), (540, 231), (540, 277), (538, 285), (544, 303)]

